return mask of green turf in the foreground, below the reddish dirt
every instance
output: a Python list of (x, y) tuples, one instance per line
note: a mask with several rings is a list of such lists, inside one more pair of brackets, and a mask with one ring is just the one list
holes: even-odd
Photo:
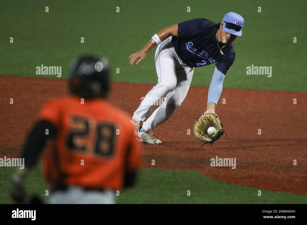
[[(12, 167), (1, 169), (0, 179), (7, 181), (14, 171)], [(197, 182), (195, 182), (197, 181)], [(0, 186), (0, 203), (12, 203), (7, 193), (9, 182)], [(41, 165), (28, 174), (26, 190), (29, 195), (45, 197), (49, 187), (43, 181)], [(190, 190), (191, 195), (187, 196)], [(204, 177), (199, 171), (145, 168), (139, 173), (137, 185), (120, 192), (122, 204), (305, 204), (307, 195), (282, 193), (220, 182)]]

